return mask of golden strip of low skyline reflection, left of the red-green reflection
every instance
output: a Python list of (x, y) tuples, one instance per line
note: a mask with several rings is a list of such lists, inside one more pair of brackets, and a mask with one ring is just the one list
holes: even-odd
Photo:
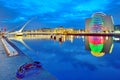
[(54, 40), (62, 44), (65, 41), (70, 41), (72, 43), (74, 38), (76, 38), (76, 36), (73, 36), (73, 35), (27, 35), (27, 36), (9, 36), (8, 38), (11, 40), (20, 41), (22, 43), (24, 42), (24, 40), (28, 40), (28, 39), (39, 39), (39, 40)]

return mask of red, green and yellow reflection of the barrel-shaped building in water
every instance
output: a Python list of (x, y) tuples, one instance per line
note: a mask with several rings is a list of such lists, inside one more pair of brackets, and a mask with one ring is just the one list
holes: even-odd
[(111, 53), (113, 48), (113, 38), (110, 36), (85, 36), (85, 48), (91, 51), (96, 57)]

